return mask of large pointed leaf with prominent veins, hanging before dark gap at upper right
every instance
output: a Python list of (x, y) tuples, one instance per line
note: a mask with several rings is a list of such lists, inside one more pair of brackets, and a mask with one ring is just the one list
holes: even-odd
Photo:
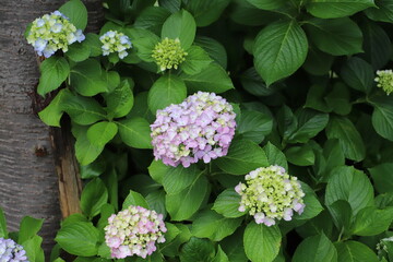
[(305, 62), (307, 51), (306, 34), (295, 20), (272, 23), (255, 38), (255, 69), (269, 86), (295, 73)]

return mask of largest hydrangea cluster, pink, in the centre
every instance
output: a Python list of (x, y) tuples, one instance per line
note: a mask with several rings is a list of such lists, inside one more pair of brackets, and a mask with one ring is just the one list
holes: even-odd
[(151, 124), (155, 159), (174, 167), (189, 167), (199, 159), (210, 163), (225, 156), (235, 135), (235, 117), (226, 99), (206, 92), (157, 110)]

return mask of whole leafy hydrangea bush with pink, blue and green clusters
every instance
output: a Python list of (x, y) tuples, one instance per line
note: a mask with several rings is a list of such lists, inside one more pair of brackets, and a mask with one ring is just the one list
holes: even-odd
[(85, 179), (52, 261), (393, 261), (389, 1), (104, 8), (26, 31)]

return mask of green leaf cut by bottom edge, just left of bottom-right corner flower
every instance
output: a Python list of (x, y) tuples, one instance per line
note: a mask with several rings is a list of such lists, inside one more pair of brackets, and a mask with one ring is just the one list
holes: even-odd
[(338, 262), (378, 262), (377, 254), (366, 245), (358, 241), (335, 242)]

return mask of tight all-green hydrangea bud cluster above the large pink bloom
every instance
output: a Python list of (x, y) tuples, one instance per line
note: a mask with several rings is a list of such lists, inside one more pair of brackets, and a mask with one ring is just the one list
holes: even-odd
[(186, 60), (187, 55), (181, 48), (179, 38), (166, 37), (154, 47), (152, 57), (159, 69), (165, 71), (166, 69), (178, 69), (178, 66)]

